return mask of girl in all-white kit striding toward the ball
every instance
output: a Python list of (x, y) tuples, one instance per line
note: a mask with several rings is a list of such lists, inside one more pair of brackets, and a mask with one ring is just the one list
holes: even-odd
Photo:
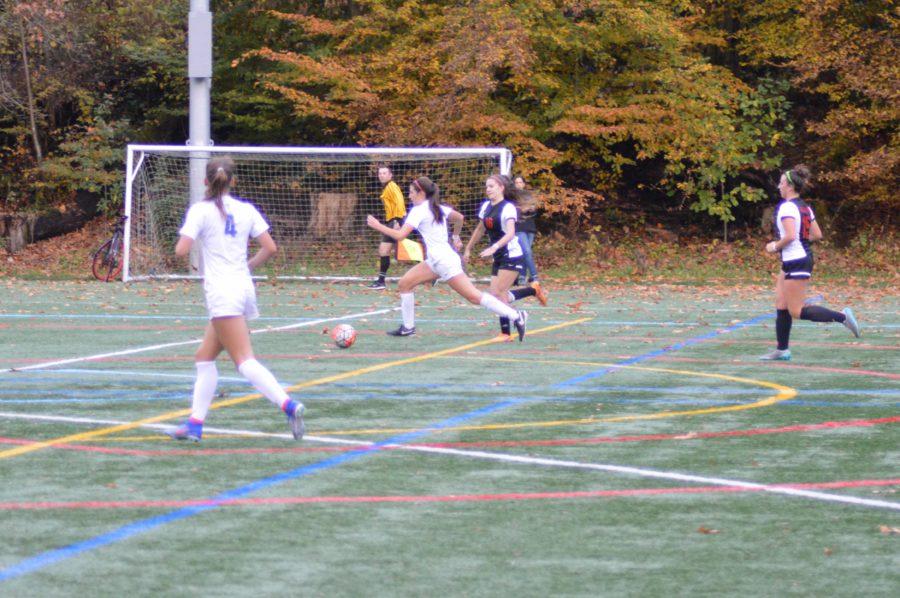
[[(457, 253), (462, 247), (459, 231), (462, 229), (463, 215), (449, 206), (441, 205), (440, 190), (428, 177), (422, 176), (410, 183), (409, 199), (413, 207), (399, 229), (385, 226), (372, 215), (366, 218), (366, 223), (370, 227), (397, 241), (405, 239), (413, 229), (419, 231), (425, 241), (427, 255), (425, 261), (410, 268), (397, 284), (403, 323), (388, 334), (412, 336), (416, 333), (416, 301), (413, 291), (420, 284), (441, 280), (446, 281), (451, 289), (470, 303), (484, 306), (499, 316), (513, 320), (519, 333), (519, 340), (525, 338), (527, 314), (524, 311), (516, 311), (488, 293), (482, 293), (463, 272), (462, 261)], [(448, 220), (453, 223), (453, 246), (449, 241)]]

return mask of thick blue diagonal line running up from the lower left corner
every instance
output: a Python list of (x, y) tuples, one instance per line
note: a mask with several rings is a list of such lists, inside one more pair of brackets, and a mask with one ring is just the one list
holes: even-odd
[[(698, 336), (695, 338), (688, 339), (686, 341), (676, 343), (674, 345), (670, 345), (663, 349), (657, 351), (651, 351), (650, 353), (645, 353), (644, 355), (639, 355), (637, 357), (633, 357), (623, 362), (622, 365), (630, 365), (633, 363), (639, 363), (641, 361), (646, 361), (647, 359), (653, 359), (654, 357), (658, 357), (659, 355), (663, 355), (665, 353), (670, 353), (672, 351), (677, 351), (679, 349), (683, 349), (684, 347), (689, 347), (695, 345), (697, 343), (703, 342), (704, 340), (708, 340), (710, 338), (716, 337), (720, 334), (725, 334), (727, 332), (731, 332), (732, 330), (739, 330), (741, 328), (745, 328), (747, 326), (752, 326), (761, 321), (774, 318), (774, 314), (767, 314), (763, 316), (758, 316), (752, 318), (750, 320), (746, 320), (744, 322), (739, 322), (737, 324), (733, 324), (728, 328), (724, 328), (721, 330), (716, 330), (714, 332), (704, 334), (702, 336)], [(578, 384), (585, 380), (590, 380), (593, 378), (597, 378), (600, 376), (604, 376), (610, 372), (614, 372), (616, 368), (603, 368), (601, 370), (597, 370), (596, 372), (592, 372), (590, 374), (584, 376), (578, 376), (576, 378), (571, 378), (569, 380), (564, 380), (563, 382), (558, 383), (556, 386), (560, 388), (564, 388), (566, 386), (570, 386), (572, 384)], [(380, 442), (376, 442), (374, 444), (368, 445), (366, 447), (361, 447), (359, 449), (353, 449), (347, 451), (345, 453), (341, 453), (340, 455), (335, 455), (333, 457), (329, 457), (322, 461), (317, 461), (315, 463), (311, 463), (309, 465), (304, 465), (302, 467), (298, 467), (297, 469), (292, 469), (290, 471), (285, 471), (279, 474), (275, 474), (273, 476), (265, 477), (255, 482), (251, 482), (249, 484), (245, 484), (244, 486), (239, 486), (237, 488), (233, 488), (231, 490), (227, 490), (221, 494), (210, 499), (213, 504), (210, 505), (202, 505), (202, 506), (191, 506), (191, 507), (183, 507), (180, 509), (176, 509), (170, 513), (166, 513), (163, 515), (156, 515), (154, 517), (149, 517), (147, 519), (141, 519), (138, 521), (134, 521), (132, 523), (128, 523), (122, 527), (119, 527), (111, 532), (107, 532), (105, 534), (100, 534), (99, 536), (95, 536), (88, 540), (84, 540), (82, 542), (76, 542), (74, 544), (70, 544), (68, 546), (63, 546), (62, 548), (56, 548), (53, 550), (48, 550), (46, 552), (42, 552), (33, 557), (26, 558), (19, 563), (12, 565), (11, 567), (7, 567), (6, 569), (0, 570), (0, 582), (6, 581), (8, 579), (13, 579), (15, 577), (20, 577), (22, 575), (26, 575), (33, 571), (37, 571), (39, 569), (43, 569), (48, 565), (53, 563), (57, 563), (59, 561), (77, 556), (84, 552), (88, 552), (90, 550), (94, 550), (96, 548), (101, 548), (103, 546), (107, 546), (109, 544), (113, 544), (115, 542), (120, 542), (122, 540), (126, 540), (133, 536), (143, 534), (150, 530), (156, 529), (168, 523), (172, 523), (173, 521), (179, 521), (181, 519), (186, 519), (188, 517), (193, 517), (194, 515), (199, 515), (201, 513), (205, 513), (206, 511), (218, 508), (220, 505), (216, 504), (217, 502), (221, 503), (223, 501), (227, 501), (229, 499), (238, 498), (241, 496), (246, 496), (251, 492), (256, 492), (258, 490), (262, 490), (264, 488), (268, 488), (270, 486), (274, 486), (276, 484), (280, 484), (282, 482), (287, 482), (290, 480), (294, 480), (317, 471), (322, 471), (325, 469), (330, 469), (332, 467), (336, 467), (343, 463), (348, 463), (350, 461), (355, 461), (361, 457), (367, 456), (373, 452), (379, 451), (386, 445), (389, 444), (402, 444), (405, 442), (409, 442), (410, 440), (417, 439), (421, 436), (425, 436), (430, 434), (435, 430), (441, 430), (444, 428), (448, 428), (451, 426), (456, 426), (458, 424), (467, 422), (469, 420), (482, 417), (485, 415), (489, 415), (508, 407), (512, 407), (514, 405), (518, 405), (518, 401), (515, 400), (506, 400), (500, 401), (497, 403), (492, 403), (487, 405), (486, 407), (482, 407), (481, 409), (476, 409), (474, 411), (469, 411), (466, 413), (462, 413), (460, 415), (451, 417), (449, 419), (445, 419), (442, 422), (438, 422), (426, 428), (422, 428), (420, 430), (415, 430), (413, 432), (407, 432), (405, 434), (399, 434), (397, 436), (392, 436), (386, 440), (382, 440)]]

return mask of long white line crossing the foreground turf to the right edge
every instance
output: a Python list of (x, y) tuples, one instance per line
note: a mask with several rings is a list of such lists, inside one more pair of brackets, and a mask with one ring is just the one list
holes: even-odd
[[(16, 419), (30, 419), (43, 421), (63, 421), (70, 423), (90, 423), (103, 425), (120, 425), (127, 422), (114, 420), (99, 420), (77, 417), (63, 417), (53, 415), (32, 415), (26, 413), (2, 413), (0, 417), (10, 417)], [(164, 429), (170, 426), (164, 424), (146, 424), (143, 427)], [(276, 434), (271, 432), (258, 432), (253, 430), (225, 430), (222, 428), (204, 427), (207, 432), (215, 434), (233, 434), (240, 436), (256, 436), (261, 438), (283, 438), (291, 439), (289, 434)], [(321, 442), (325, 444), (342, 444), (352, 446), (372, 446), (375, 442), (366, 440), (345, 440), (342, 438), (333, 438), (329, 436), (311, 436), (303, 437), (304, 440), (313, 442)], [(629, 467), (625, 465), (609, 465), (604, 463), (583, 463), (581, 461), (565, 461), (561, 459), (547, 459), (543, 457), (524, 457), (519, 455), (509, 455), (504, 453), (489, 453), (486, 451), (470, 451), (463, 449), (431, 447), (431, 446), (414, 446), (407, 444), (386, 444), (384, 448), (413, 451), (418, 453), (431, 453), (438, 455), (452, 455), (457, 457), (466, 457), (469, 459), (480, 459), (486, 461), (501, 461), (506, 463), (517, 463), (520, 465), (541, 465), (545, 467), (565, 467), (571, 469), (585, 469), (589, 471), (605, 471), (609, 473), (617, 473), (623, 475), (631, 475), (642, 478), (654, 478), (660, 480), (670, 480), (676, 482), (687, 482), (691, 484), (701, 484), (704, 486), (726, 486), (734, 488), (744, 488), (746, 490), (768, 492), (770, 494), (779, 494), (790, 496), (793, 498), (806, 498), (822, 502), (843, 503), (855, 506), (873, 507), (878, 509), (890, 509), (900, 511), (900, 502), (890, 502), (885, 500), (874, 500), (869, 498), (860, 498), (857, 496), (844, 496), (841, 494), (831, 494), (828, 492), (817, 492), (815, 490), (803, 490), (800, 488), (786, 488), (783, 485), (770, 486), (768, 484), (759, 484), (756, 482), (745, 482), (743, 480), (732, 480), (728, 478), (706, 477), (687, 473), (678, 473), (675, 471), (660, 471), (656, 469), (647, 469), (644, 467)]]

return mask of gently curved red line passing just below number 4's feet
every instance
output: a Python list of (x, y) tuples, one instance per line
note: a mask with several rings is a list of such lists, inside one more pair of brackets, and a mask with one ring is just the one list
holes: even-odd
[[(494, 440), (476, 442), (436, 442), (415, 443), (409, 446), (421, 446), (431, 448), (497, 448), (497, 447), (526, 447), (526, 446), (572, 446), (579, 444), (605, 444), (616, 442), (650, 442), (664, 440), (703, 440), (708, 438), (735, 438), (742, 436), (763, 436), (768, 434), (789, 434), (797, 432), (813, 432), (816, 430), (835, 430), (839, 428), (864, 428), (882, 424), (894, 424), (900, 422), (900, 416), (880, 417), (874, 419), (849, 419), (842, 421), (828, 421), (818, 424), (798, 424), (783, 426), (780, 428), (750, 428), (747, 430), (725, 430), (722, 432), (685, 432), (681, 434), (638, 434), (633, 436), (596, 436), (591, 438), (555, 438), (549, 440)], [(32, 444), (34, 440), (0, 437), (0, 444)], [(258, 455), (280, 453), (321, 453), (341, 452), (353, 450), (356, 447), (291, 447), (291, 448), (235, 448), (235, 449), (126, 449), (104, 446), (86, 446), (81, 444), (61, 444), (51, 448), (83, 451), (90, 453), (103, 453), (107, 455), (130, 455), (137, 457), (168, 457), (168, 456), (201, 456), (201, 455)], [(385, 447), (385, 450), (392, 450)]]

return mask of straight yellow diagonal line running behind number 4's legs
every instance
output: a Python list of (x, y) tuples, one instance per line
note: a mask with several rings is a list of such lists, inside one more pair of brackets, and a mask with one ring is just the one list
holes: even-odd
[[(575, 326), (576, 324), (581, 324), (583, 322), (587, 322), (592, 318), (580, 318), (578, 320), (572, 320), (571, 322), (563, 322), (561, 324), (554, 324), (553, 326), (547, 326), (545, 328), (539, 328), (530, 334), (540, 334), (542, 332), (550, 332), (551, 330), (557, 330), (559, 328), (565, 328), (567, 326)], [(372, 372), (379, 372), (381, 370), (386, 370), (389, 368), (398, 367), (401, 365), (407, 365), (410, 363), (418, 363), (420, 361), (427, 361), (429, 359), (435, 359), (437, 357), (443, 357), (445, 355), (452, 355), (453, 353), (459, 353), (460, 351), (467, 351), (469, 349), (474, 349), (476, 347), (483, 347), (485, 345), (490, 345), (492, 343), (501, 342), (497, 338), (490, 338), (483, 341), (478, 341), (474, 343), (468, 343), (466, 345), (461, 345), (459, 347), (453, 347), (450, 349), (443, 349), (441, 351), (434, 351), (432, 353), (426, 353), (424, 355), (419, 355), (417, 357), (407, 357), (405, 359), (398, 359), (396, 361), (389, 361), (387, 363), (380, 363), (376, 365), (371, 365), (364, 368), (359, 368), (356, 370), (352, 370), (349, 372), (344, 372), (342, 374), (335, 374), (333, 376), (324, 376), (322, 378), (316, 378), (313, 380), (308, 380), (306, 382), (300, 382), (299, 384), (295, 384), (293, 386), (289, 386), (287, 388), (288, 391), (300, 390), (302, 388), (309, 388), (311, 386), (318, 386), (321, 384), (328, 384), (329, 382), (337, 382), (339, 380), (346, 380), (347, 378), (353, 378), (356, 376), (362, 376), (363, 374), (371, 374)], [(214, 403), (212, 405), (212, 409), (222, 409), (224, 407), (231, 407), (233, 405), (239, 405), (241, 403), (246, 403), (247, 401), (252, 401), (253, 399), (258, 399), (262, 397), (259, 393), (244, 395), (241, 397), (235, 397), (233, 399), (227, 399), (225, 401), (220, 401), (218, 403)], [(84, 440), (90, 440), (91, 438), (98, 438), (101, 436), (108, 436), (110, 434), (115, 434), (116, 432), (124, 432), (125, 430), (133, 430), (134, 428), (139, 428), (146, 424), (155, 424), (157, 422), (169, 421), (172, 419), (176, 419), (179, 417), (184, 417), (186, 415), (190, 415), (190, 409), (179, 409), (177, 411), (169, 411), (168, 413), (163, 413), (161, 415), (154, 415), (153, 417), (147, 417), (144, 419), (139, 419), (133, 422), (129, 422), (126, 424), (119, 424), (116, 426), (110, 426), (108, 428), (100, 428), (98, 430), (91, 430), (89, 432), (80, 432), (78, 434), (70, 434), (68, 436), (61, 436), (59, 438), (54, 438), (51, 440), (44, 440), (41, 442), (36, 442), (34, 444), (28, 444), (19, 446), (13, 449), (8, 449), (5, 451), (0, 451), (0, 459), (9, 459), (12, 457), (17, 457), (19, 455), (25, 455), (28, 453), (33, 453), (35, 451), (39, 451), (45, 448), (49, 448), (52, 446), (56, 446), (59, 444), (68, 444), (71, 442), (80, 442)]]

